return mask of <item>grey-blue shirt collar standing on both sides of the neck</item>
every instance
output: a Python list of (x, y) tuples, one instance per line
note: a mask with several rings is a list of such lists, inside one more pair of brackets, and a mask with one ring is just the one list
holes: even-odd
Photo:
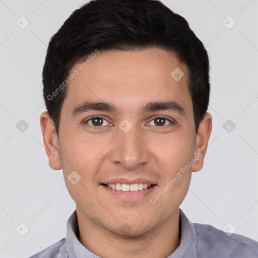
[[(196, 258), (197, 235), (193, 224), (187, 219), (179, 209), (179, 228), (181, 232), (180, 245), (167, 258)], [(96, 254), (89, 251), (78, 240), (79, 227), (76, 211), (70, 216), (67, 222), (66, 245), (69, 258), (85, 257), (95, 258)]]

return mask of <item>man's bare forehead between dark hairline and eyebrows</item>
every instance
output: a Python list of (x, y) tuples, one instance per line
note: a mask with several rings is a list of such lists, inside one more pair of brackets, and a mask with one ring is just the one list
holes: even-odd
[(187, 68), (172, 51), (104, 51), (90, 57), (84, 66), (79, 62), (71, 70), (77, 75), (63, 105), (70, 112), (86, 100), (112, 102), (120, 111), (137, 112), (143, 103), (163, 100), (191, 107)]

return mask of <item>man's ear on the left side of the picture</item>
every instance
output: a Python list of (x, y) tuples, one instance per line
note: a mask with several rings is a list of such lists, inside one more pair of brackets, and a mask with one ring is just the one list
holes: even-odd
[(40, 116), (40, 126), (49, 166), (52, 169), (59, 170), (62, 167), (59, 156), (58, 138), (54, 122), (46, 111)]

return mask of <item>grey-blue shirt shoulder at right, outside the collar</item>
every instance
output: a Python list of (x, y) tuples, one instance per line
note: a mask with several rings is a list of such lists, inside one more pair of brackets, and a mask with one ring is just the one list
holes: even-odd
[(211, 225), (193, 223), (197, 234), (197, 251), (205, 257), (258, 257), (258, 242), (239, 235), (227, 235)]

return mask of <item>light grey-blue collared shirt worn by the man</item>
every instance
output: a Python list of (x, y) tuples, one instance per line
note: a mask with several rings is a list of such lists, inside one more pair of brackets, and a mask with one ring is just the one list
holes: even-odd
[[(191, 223), (180, 210), (180, 245), (167, 258), (257, 258), (258, 242), (238, 234), (228, 236), (210, 225)], [(78, 240), (77, 213), (67, 222), (67, 236), (30, 258), (98, 258)], [(134, 254), (132, 253), (132, 257)]]

